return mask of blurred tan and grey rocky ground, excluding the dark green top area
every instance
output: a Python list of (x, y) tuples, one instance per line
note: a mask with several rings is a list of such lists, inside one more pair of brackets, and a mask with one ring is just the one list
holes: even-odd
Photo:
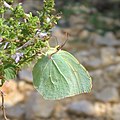
[[(120, 21), (107, 19), (110, 25)], [(62, 19), (61, 24), (65, 23)], [(90, 72), (93, 88), (59, 101), (46, 101), (32, 85), (31, 67), (19, 72), (16, 80), (4, 86), (6, 113), (11, 120), (120, 120), (120, 31), (104, 36), (89, 31), (80, 14), (71, 15), (69, 27), (56, 27), (53, 36)], [(86, 27), (87, 26), (87, 27)], [(55, 39), (51, 40), (55, 46)], [(0, 112), (0, 120), (2, 113)]]

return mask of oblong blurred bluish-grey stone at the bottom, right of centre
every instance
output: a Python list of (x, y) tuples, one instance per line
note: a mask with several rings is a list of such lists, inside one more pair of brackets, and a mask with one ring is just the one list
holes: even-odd
[(82, 100), (79, 102), (73, 102), (67, 106), (68, 113), (76, 114), (76, 115), (94, 115), (94, 106), (91, 102), (87, 100)]

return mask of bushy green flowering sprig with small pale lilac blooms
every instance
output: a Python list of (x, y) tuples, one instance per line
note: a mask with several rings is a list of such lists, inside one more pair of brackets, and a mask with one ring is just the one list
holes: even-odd
[[(9, 5), (8, 3), (11, 3)], [(18, 70), (49, 48), (51, 29), (59, 16), (53, 15), (54, 0), (44, 0), (38, 16), (25, 13), (20, 4), (13, 7), (12, 0), (0, 0), (0, 80), (13, 79)], [(1, 84), (1, 86), (2, 86)]]

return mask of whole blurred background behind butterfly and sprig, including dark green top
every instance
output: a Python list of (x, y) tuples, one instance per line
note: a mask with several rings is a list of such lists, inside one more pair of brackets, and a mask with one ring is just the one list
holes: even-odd
[[(26, 12), (42, 0), (19, 0)], [(62, 18), (53, 36), (90, 72), (92, 92), (59, 101), (44, 100), (33, 88), (32, 67), (4, 85), (10, 120), (120, 120), (120, 0), (55, 0)], [(51, 40), (51, 46), (56, 41)], [(32, 65), (31, 65), (32, 66)], [(0, 120), (2, 113), (0, 112)]]

